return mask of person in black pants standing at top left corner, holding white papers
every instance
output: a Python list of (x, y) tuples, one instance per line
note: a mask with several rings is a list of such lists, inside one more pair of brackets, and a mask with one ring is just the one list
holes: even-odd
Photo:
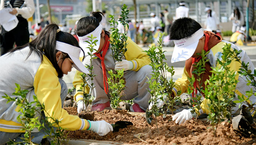
[[(10, 4), (7, 4), (10, 2)], [(10, 6), (11, 5), (11, 6)], [(0, 10), (3, 8), (11, 8), (10, 14), (16, 15), (19, 20), (18, 25), (10, 30), (5, 31), (1, 26), (0, 48), (1, 56), (7, 53), (16, 46), (22, 46), (29, 43), (29, 23), (27, 19), (30, 18), (35, 11), (35, 4), (33, 0), (1, 0)]]

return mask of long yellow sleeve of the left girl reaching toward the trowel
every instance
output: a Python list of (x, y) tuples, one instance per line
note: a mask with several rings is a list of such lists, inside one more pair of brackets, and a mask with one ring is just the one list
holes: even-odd
[[(61, 121), (60, 126), (64, 129), (86, 130), (88, 124), (85, 119), (69, 115), (66, 110), (61, 108), (61, 85), (59, 78), (57, 77), (57, 72), (54, 67), (51, 64), (46, 64), (48, 60), (46, 59), (47, 58), (44, 56), (44, 61), (39, 66), (34, 79), (35, 95), (39, 102), (45, 105), (45, 116), (53, 117)], [(48, 121), (53, 123), (52, 119), (48, 119)]]

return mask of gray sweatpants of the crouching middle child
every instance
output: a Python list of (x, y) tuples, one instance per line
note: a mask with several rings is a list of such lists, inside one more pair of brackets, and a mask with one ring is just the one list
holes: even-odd
[[(110, 50), (110, 49), (109, 49)], [(90, 64), (89, 57), (86, 57), (84, 60), (86, 64)], [(113, 57), (110, 56), (110, 51), (107, 52), (105, 56), (105, 67), (106, 67), (106, 74), (109, 77), (108, 71), (112, 69), (114, 72), (115, 62)], [(94, 66), (94, 77), (93, 83), (95, 88), (93, 89), (93, 96), (95, 99), (93, 100), (93, 105), (98, 103), (106, 103), (110, 99), (109, 93), (106, 94), (104, 91), (103, 85), (103, 73), (102, 73), (102, 66), (101, 60), (99, 58), (93, 59), (92, 65)], [(148, 108), (148, 101), (151, 97), (150, 93), (148, 92), (148, 78), (151, 78), (152, 68), (150, 65), (145, 65), (140, 68), (137, 72), (133, 70), (128, 70), (124, 72), (124, 78), (126, 81), (125, 90), (123, 91), (125, 96), (121, 97), (121, 100), (131, 100), (134, 98), (133, 102), (139, 104), (140, 108), (143, 110), (147, 110)], [(90, 80), (87, 82), (91, 84)], [(136, 97), (136, 98), (135, 98)]]

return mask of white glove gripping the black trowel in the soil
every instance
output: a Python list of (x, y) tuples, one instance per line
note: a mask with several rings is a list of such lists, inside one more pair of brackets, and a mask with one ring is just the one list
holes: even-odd
[(99, 136), (105, 136), (110, 131), (113, 131), (113, 127), (106, 121), (90, 121), (90, 129), (91, 131), (98, 133)]

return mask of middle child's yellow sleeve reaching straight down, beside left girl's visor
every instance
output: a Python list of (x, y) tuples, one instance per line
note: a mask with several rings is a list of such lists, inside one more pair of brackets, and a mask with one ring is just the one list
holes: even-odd
[[(79, 100), (83, 100), (83, 92), (78, 92), (78, 90), (80, 89), (80, 87), (83, 84), (83, 80), (80, 76), (82, 72), (79, 72), (78, 70), (76, 70), (76, 74), (74, 77), (74, 81), (73, 81), (73, 85), (76, 88), (76, 94), (74, 95), (74, 100), (76, 102), (78, 102)], [(90, 88), (88, 85), (85, 86), (85, 92), (88, 94), (90, 92)]]

